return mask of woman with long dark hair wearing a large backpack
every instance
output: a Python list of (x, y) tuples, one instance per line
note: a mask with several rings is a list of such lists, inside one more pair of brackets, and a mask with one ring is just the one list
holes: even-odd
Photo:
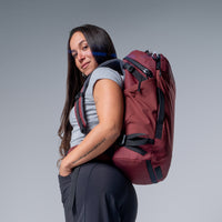
[[(67, 98), (59, 129), (59, 182), (67, 222), (135, 221), (137, 194), (131, 182), (98, 158), (112, 151), (122, 129), (122, 78), (110, 68), (99, 67), (114, 57), (114, 46), (103, 29), (85, 24), (70, 32)], [(89, 75), (84, 98), (89, 133), (83, 134), (74, 98)]]

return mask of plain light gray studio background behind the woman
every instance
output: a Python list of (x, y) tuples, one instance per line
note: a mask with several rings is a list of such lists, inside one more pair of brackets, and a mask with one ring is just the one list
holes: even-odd
[(176, 81), (168, 179), (135, 186), (138, 222), (222, 221), (220, 0), (0, 1), (0, 220), (62, 222), (56, 162), (64, 101), (67, 39), (103, 27), (119, 58), (164, 53)]

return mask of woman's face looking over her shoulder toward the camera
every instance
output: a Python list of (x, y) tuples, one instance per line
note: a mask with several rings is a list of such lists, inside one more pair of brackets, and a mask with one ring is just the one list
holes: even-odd
[(82, 32), (77, 31), (70, 39), (70, 49), (77, 68), (85, 75), (89, 75), (98, 63), (92, 56), (91, 49)]

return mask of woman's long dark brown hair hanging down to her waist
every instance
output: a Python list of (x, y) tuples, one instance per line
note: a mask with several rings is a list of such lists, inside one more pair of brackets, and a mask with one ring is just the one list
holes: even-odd
[(115, 49), (112, 40), (108, 32), (102, 28), (92, 24), (84, 24), (81, 27), (77, 27), (70, 31), (68, 40), (67, 93), (64, 107), (61, 114), (61, 124), (58, 130), (58, 135), (61, 139), (59, 151), (62, 158), (70, 149), (72, 125), (69, 121), (69, 114), (74, 105), (74, 97), (80, 91), (85, 79), (77, 68), (74, 59), (70, 53), (70, 39), (77, 31), (83, 33), (98, 64), (101, 64), (102, 62), (113, 59), (113, 57), (115, 57)]

